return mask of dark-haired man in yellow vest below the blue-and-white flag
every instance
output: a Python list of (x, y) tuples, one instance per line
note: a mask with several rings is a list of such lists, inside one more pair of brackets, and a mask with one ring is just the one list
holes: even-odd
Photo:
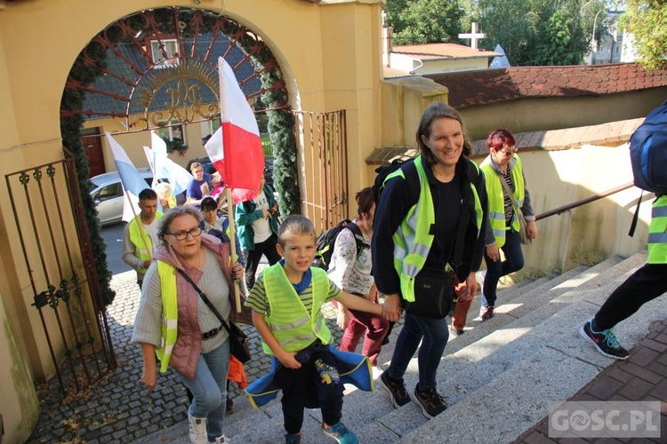
[[(137, 272), (137, 283), (141, 289), (143, 276), (153, 260), (157, 248), (157, 226), (162, 211), (157, 210), (157, 194), (146, 188), (139, 194), (140, 213), (125, 226), (123, 231), (123, 262)], [(140, 223), (141, 222), (141, 223)]]

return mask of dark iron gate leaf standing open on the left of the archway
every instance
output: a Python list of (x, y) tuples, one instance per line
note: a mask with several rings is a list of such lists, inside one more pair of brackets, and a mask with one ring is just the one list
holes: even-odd
[(116, 356), (74, 158), (65, 153), (64, 160), (7, 174), (5, 180), (32, 291), (30, 306), (39, 314), (60, 389), (67, 395), (116, 367)]

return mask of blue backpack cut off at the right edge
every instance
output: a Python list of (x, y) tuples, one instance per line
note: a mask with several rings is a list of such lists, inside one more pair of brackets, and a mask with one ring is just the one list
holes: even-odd
[(667, 101), (651, 111), (630, 138), (635, 186), (667, 194)]

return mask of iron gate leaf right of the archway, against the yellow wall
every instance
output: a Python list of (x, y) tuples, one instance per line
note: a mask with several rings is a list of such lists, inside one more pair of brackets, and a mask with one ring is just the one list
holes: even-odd
[(294, 111), (296, 139), (301, 140), (305, 175), (301, 202), (317, 233), (350, 215), (348, 131), (345, 110), (329, 113)]

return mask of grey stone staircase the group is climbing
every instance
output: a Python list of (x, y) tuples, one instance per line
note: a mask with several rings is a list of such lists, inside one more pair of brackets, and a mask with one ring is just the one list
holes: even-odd
[[(578, 329), (609, 293), (646, 262), (646, 253), (609, 258), (596, 266), (579, 266), (565, 274), (526, 280), (499, 292), (493, 319), (476, 317), (479, 297), (470, 308), (465, 334), (450, 336), (438, 369), (438, 392), (449, 408), (428, 420), (414, 403), (392, 408), (388, 395), (346, 392), (343, 422), (359, 441), (511, 442), (549, 414), (549, 402), (567, 400), (613, 360), (595, 352)], [(630, 349), (646, 336), (652, 321), (664, 319), (667, 298), (642, 307), (622, 322), (616, 336)], [(474, 319), (473, 319), (474, 318)], [(334, 327), (335, 328), (335, 327)], [(381, 367), (389, 365), (399, 325), (382, 348)], [(414, 390), (417, 361), (407, 369), (406, 387)], [(226, 434), (234, 442), (283, 442), (279, 400), (255, 411), (237, 397)], [(320, 431), (318, 410), (306, 410), (301, 442), (332, 442)], [(141, 442), (187, 443), (186, 422), (147, 436)]]

